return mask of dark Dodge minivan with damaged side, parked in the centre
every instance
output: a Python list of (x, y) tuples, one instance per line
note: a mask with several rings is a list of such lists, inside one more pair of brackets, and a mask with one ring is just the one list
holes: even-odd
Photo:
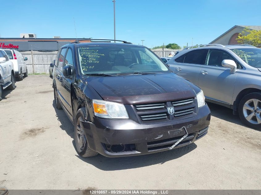
[(149, 154), (207, 134), (210, 110), (201, 89), (147, 47), (85, 41), (61, 47), (53, 68), (55, 105), (74, 124), (80, 156)]

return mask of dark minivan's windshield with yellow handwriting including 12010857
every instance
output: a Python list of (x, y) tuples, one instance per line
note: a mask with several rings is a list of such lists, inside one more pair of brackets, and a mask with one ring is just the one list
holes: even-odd
[(84, 75), (120, 75), (170, 72), (149, 49), (137, 46), (105, 45), (78, 47)]

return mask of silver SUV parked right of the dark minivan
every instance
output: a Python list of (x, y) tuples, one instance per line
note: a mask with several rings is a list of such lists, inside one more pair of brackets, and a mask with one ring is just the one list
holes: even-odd
[(261, 129), (261, 49), (251, 45), (187, 47), (167, 62), (195, 83), (206, 101), (233, 109), (246, 125)]

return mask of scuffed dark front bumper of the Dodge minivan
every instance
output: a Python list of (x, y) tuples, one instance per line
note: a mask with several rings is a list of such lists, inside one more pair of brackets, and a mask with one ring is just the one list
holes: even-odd
[[(164, 123), (138, 124), (133, 120), (111, 120), (94, 118), (94, 123), (82, 122), (89, 147), (107, 157), (135, 156), (169, 150), (185, 130), (188, 136), (175, 148), (190, 144), (207, 134), (210, 124), (210, 110), (207, 104), (198, 109), (198, 114), (183, 120)], [(108, 151), (107, 145), (130, 144), (135, 150), (125, 152)]]

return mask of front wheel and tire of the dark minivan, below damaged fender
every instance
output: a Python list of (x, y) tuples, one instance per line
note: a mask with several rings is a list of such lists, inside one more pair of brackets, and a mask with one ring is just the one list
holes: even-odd
[(86, 117), (86, 109), (80, 108), (76, 113), (76, 117), (74, 121), (74, 142), (76, 146), (76, 151), (82, 157), (96, 156), (98, 152), (95, 152), (91, 148), (89, 148), (86, 140), (86, 135), (80, 123), (80, 120), (84, 120), (85, 117)]

